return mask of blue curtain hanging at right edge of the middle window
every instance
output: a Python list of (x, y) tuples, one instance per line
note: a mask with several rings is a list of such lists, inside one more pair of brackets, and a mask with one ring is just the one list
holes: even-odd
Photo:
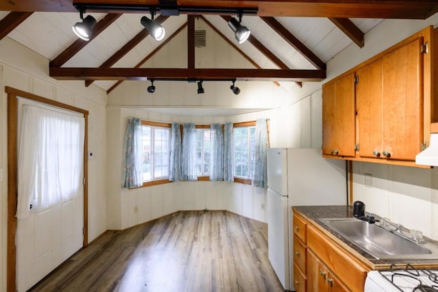
[(210, 181), (223, 181), (224, 179), (224, 139), (222, 135), (222, 124), (211, 124), (211, 131), (214, 131), (211, 143), (211, 166)]

